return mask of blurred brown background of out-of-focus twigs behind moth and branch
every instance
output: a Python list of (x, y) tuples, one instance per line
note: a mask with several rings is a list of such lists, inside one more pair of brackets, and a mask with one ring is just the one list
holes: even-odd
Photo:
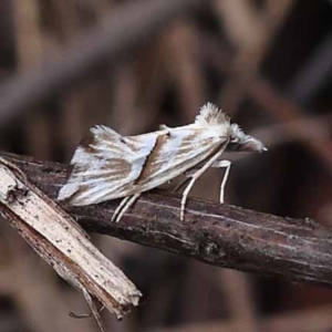
[[(332, 1), (1, 0), (0, 80), (0, 148), (62, 163), (92, 125), (141, 134), (214, 102), (269, 148), (227, 156), (226, 201), (332, 225)], [(217, 200), (221, 176), (191, 195)], [(332, 331), (328, 289), (94, 242), (144, 294), (108, 331)], [(0, 331), (98, 331), (71, 311), (83, 297), (1, 220)]]

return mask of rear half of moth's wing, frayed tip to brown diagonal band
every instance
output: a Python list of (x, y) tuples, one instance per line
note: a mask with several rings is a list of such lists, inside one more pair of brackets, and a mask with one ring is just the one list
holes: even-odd
[(90, 129), (91, 137), (76, 148), (72, 173), (58, 199), (90, 205), (127, 195), (153, 151), (157, 132), (125, 137), (106, 126)]

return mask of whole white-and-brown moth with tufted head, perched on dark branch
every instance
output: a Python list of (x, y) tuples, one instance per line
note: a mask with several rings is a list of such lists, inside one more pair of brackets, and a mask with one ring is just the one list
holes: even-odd
[(267, 151), (211, 103), (203, 105), (195, 122), (185, 126), (160, 125), (156, 132), (137, 136), (122, 136), (103, 125), (90, 132), (74, 153), (72, 172), (58, 199), (84, 206), (123, 198), (114, 211), (115, 221), (142, 193), (187, 174), (188, 185), (180, 203), (184, 220), (188, 194), (209, 167), (226, 168), (219, 195), (224, 203), (230, 169), (230, 162), (222, 159), (224, 153)]

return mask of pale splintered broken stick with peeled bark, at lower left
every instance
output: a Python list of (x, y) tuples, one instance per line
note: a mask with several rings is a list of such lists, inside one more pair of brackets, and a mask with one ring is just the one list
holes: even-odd
[(0, 207), (56, 272), (100, 300), (117, 318), (137, 305), (141, 292), (81, 231), (80, 226), (0, 158)]

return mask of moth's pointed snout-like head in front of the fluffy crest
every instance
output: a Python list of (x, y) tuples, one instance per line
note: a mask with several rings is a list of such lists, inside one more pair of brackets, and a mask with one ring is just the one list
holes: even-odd
[(229, 126), (228, 152), (266, 152), (268, 151), (263, 144), (250, 136), (246, 135), (238, 124), (234, 123)]

